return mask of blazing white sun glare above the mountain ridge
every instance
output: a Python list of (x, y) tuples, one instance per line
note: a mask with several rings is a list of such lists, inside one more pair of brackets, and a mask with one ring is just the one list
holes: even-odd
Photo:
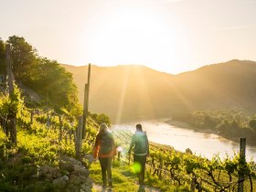
[(86, 31), (80, 48), (91, 63), (157, 65), (161, 69), (179, 55), (175, 25), (167, 25), (171, 21), (150, 8), (119, 7), (95, 22), (91, 32)]

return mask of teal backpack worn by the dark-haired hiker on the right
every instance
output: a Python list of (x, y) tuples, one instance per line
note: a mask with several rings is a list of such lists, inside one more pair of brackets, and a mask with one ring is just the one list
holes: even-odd
[(135, 134), (134, 154), (146, 154), (148, 149), (148, 142), (146, 133)]

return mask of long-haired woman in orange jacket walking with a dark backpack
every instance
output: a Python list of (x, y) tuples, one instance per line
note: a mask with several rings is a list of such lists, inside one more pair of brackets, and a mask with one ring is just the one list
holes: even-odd
[(105, 123), (101, 123), (94, 144), (93, 157), (95, 160), (99, 157), (100, 160), (103, 188), (107, 187), (107, 181), (109, 187), (112, 187), (112, 157), (114, 155), (116, 155), (116, 150), (112, 132)]

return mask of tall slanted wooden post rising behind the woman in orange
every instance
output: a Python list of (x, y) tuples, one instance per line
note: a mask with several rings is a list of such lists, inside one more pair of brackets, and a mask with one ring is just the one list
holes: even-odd
[(84, 100), (83, 100), (83, 124), (82, 124), (82, 139), (85, 138), (86, 133), (86, 119), (89, 108), (89, 91), (90, 91), (90, 79), (91, 79), (91, 64), (88, 66), (87, 83), (84, 84)]

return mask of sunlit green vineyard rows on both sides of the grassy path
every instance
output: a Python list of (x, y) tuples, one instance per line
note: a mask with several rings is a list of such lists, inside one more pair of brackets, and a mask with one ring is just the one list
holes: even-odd
[[(5, 132), (4, 116), (2, 127)], [(86, 157), (91, 154), (98, 126), (106, 121), (108, 118), (104, 115), (95, 113), (90, 113), (87, 118), (86, 137), (81, 148), (82, 161), (85, 165), (91, 164), (91, 160)], [(1, 131), (2, 187), (3, 185), (4, 188), (12, 186), (11, 189), (24, 188), (22, 187), (24, 185), (29, 187), (32, 184), (27, 178), (35, 174), (37, 166), (45, 164), (58, 166), (61, 155), (76, 156), (74, 141), (78, 127), (77, 119), (72, 119), (71, 122), (67, 115), (59, 115), (51, 110), (28, 109), (21, 105), (18, 107), (16, 123), (18, 128), (16, 147), (8, 143), (4, 132)], [(132, 160), (130, 161), (126, 156), (132, 133), (124, 130), (113, 130), (113, 133), (120, 149), (121, 161), (132, 165)], [(10, 169), (8, 163), (13, 162), (13, 159), (21, 154), (21, 162), (33, 162), (29, 166), (31, 170), (28, 176), (18, 174), (24, 166), (11, 166)], [(208, 160), (193, 155), (188, 149), (186, 153), (181, 153), (170, 146), (150, 144), (146, 169), (146, 184), (163, 191), (173, 191), (173, 187), (182, 188), (180, 191), (238, 191), (239, 182), (243, 182), (244, 191), (252, 192), (256, 188), (255, 163), (241, 161), (239, 155), (226, 156), (224, 159), (216, 155)], [(244, 175), (244, 180), (239, 181), (240, 174)], [(48, 190), (50, 188), (48, 187)]]

